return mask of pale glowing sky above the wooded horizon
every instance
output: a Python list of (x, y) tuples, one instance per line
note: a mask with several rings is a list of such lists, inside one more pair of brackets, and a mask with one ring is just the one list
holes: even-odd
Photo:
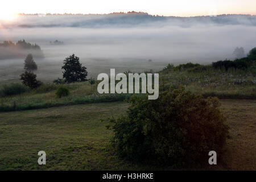
[(82, 13), (143, 11), (153, 15), (195, 16), (216, 14), (256, 15), (255, 0), (8, 0), (1, 2), (0, 19), (15, 13)]

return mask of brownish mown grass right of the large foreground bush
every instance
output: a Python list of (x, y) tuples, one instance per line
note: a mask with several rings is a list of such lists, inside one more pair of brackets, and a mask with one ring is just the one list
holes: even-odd
[(223, 167), (229, 170), (255, 171), (256, 101), (221, 100), (221, 104), (230, 132)]

